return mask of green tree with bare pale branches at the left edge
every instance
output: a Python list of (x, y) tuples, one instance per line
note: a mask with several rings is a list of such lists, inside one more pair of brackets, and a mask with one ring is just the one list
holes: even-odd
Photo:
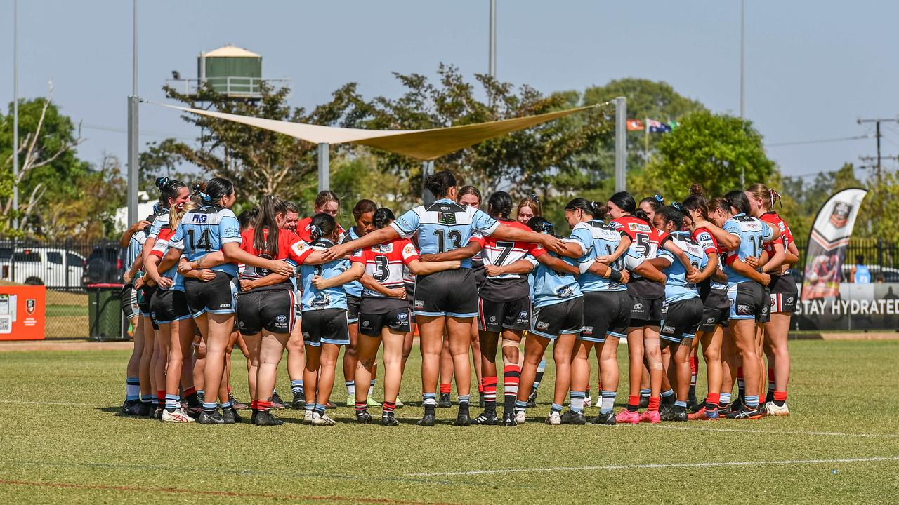
[(89, 164), (76, 157), (75, 147), (84, 141), (80, 127), (60, 113), (49, 98), (22, 101), (19, 105), (19, 207), (13, 208), (13, 106), (0, 115), (0, 233), (12, 235), (13, 217), (20, 234), (39, 234), (44, 215), (53, 202), (72, 199)]

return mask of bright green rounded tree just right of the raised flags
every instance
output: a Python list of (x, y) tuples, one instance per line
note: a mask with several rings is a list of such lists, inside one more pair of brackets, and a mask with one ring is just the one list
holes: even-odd
[(662, 137), (647, 174), (654, 189), (667, 195), (685, 195), (693, 182), (717, 196), (743, 187), (741, 177), (747, 185), (779, 179), (751, 121), (708, 111), (683, 116)]

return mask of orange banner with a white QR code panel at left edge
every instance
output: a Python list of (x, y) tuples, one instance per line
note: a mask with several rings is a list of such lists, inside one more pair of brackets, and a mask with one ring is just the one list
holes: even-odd
[(44, 340), (47, 288), (0, 286), (0, 341)]

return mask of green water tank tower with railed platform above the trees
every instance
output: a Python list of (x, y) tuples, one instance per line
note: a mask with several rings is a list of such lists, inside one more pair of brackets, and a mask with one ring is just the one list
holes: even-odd
[(200, 53), (196, 79), (182, 79), (177, 71), (172, 76), (165, 84), (194, 98), (208, 84), (230, 99), (259, 100), (263, 97), (263, 84), (277, 89), (291, 82), (290, 79), (263, 79), (262, 55), (230, 44)]

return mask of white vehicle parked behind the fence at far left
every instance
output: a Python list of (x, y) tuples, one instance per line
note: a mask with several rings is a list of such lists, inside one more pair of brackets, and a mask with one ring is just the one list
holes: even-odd
[(51, 247), (16, 247), (0, 250), (0, 279), (18, 284), (81, 288), (85, 257)]

